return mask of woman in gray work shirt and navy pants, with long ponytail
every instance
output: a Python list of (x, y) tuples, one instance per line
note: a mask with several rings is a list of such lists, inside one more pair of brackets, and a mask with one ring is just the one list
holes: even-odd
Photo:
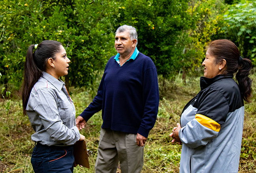
[(28, 47), (23, 81), (23, 113), (36, 142), (31, 163), (35, 173), (73, 173), (73, 145), (84, 140), (75, 125), (75, 106), (60, 76), (70, 60), (61, 43), (45, 40)]

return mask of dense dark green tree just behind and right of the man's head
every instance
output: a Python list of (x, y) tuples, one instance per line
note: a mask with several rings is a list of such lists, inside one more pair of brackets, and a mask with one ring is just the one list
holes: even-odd
[(119, 8), (118, 23), (137, 29), (139, 51), (152, 58), (164, 77), (173, 77), (183, 66), (188, 39), (184, 31), (190, 25), (187, 8), (187, 0), (128, 0)]

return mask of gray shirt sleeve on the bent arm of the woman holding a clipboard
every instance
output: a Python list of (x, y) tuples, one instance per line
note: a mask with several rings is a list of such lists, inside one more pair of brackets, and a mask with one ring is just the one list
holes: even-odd
[(53, 141), (73, 145), (80, 139), (76, 126), (68, 128), (60, 118), (56, 95), (48, 88), (37, 90), (32, 108), (39, 115), (41, 122)]

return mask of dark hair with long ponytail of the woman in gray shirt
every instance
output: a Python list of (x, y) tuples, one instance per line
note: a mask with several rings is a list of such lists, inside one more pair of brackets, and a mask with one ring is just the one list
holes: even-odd
[(23, 79), (23, 114), (26, 115), (26, 106), (32, 87), (42, 75), (42, 71), (46, 70), (47, 60), (49, 58), (55, 59), (56, 53), (60, 51), (58, 41), (45, 40), (38, 44), (34, 53), (35, 45), (30, 45), (26, 54), (26, 61), (24, 66), (24, 79)]

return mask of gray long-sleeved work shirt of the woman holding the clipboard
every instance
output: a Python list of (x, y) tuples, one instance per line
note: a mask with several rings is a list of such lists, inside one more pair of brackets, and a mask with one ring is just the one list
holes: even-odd
[(80, 139), (75, 106), (65, 83), (42, 72), (31, 90), (26, 113), (36, 133), (31, 139), (43, 145), (67, 146)]

